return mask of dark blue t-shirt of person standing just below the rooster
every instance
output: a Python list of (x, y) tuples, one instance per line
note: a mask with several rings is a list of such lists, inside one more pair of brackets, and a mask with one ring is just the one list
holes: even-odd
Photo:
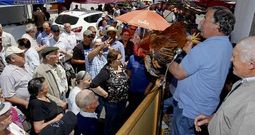
[(145, 74), (145, 66), (142, 58), (131, 55), (128, 61), (127, 69), (131, 71), (129, 91), (144, 93), (149, 80)]

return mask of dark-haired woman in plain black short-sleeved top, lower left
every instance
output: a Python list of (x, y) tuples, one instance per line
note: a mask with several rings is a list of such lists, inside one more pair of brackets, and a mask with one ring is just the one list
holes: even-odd
[[(34, 78), (28, 82), (28, 91), (30, 93), (28, 109), (32, 124), (31, 135), (40, 134), (42, 130), (54, 130), (54, 128), (50, 126), (53, 125), (53, 123), (62, 121), (65, 117), (63, 110), (47, 97), (48, 90), (49, 86), (44, 77)], [(75, 117), (74, 114), (73, 116)], [(70, 129), (73, 129), (76, 124), (75, 120), (73, 122), (75, 123), (69, 125)], [(64, 122), (60, 123), (63, 123), (62, 125), (66, 124)], [(56, 132), (57, 130), (55, 133)]]

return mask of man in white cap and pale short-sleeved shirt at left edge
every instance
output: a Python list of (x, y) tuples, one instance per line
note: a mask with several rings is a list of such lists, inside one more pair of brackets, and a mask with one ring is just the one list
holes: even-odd
[(27, 85), (32, 79), (31, 69), (25, 65), (24, 50), (16, 46), (11, 46), (6, 49), (7, 66), (4, 68), (0, 76), (0, 85), (3, 90), (3, 96), (6, 101), (26, 113), (29, 93)]

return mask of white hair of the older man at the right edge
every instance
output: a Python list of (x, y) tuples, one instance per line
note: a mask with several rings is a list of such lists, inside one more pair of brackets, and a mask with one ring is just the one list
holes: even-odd
[(237, 46), (242, 62), (255, 61), (255, 36), (241, 40)]

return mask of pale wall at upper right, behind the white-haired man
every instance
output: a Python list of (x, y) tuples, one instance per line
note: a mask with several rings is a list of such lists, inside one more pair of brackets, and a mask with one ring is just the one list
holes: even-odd
[(253, 16), (255, 13), (255, 0), (236, 0), (235, 29), (231, 34), (233, 43), (239, 42), (242, 38), (248, 37)]

